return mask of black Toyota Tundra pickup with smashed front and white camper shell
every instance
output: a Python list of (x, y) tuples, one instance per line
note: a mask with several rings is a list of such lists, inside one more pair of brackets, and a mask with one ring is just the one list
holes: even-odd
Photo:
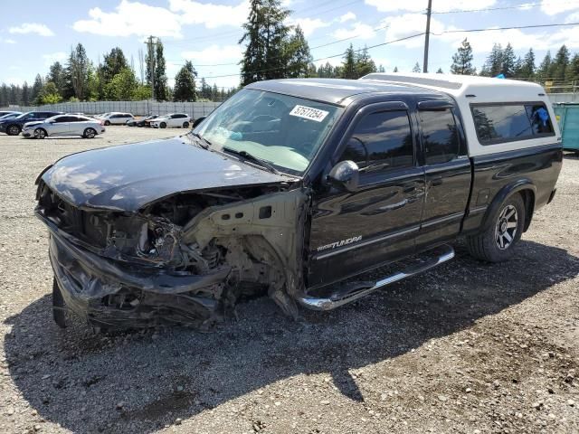
[(508, 259), (555, 194), (553, 119), (511, 80), (271, 80), (185, 136), (66, 156), (37, 180), (54, 319), (212, 325), (261, 294), (296, 317), (445, 262), (460, 236)]

